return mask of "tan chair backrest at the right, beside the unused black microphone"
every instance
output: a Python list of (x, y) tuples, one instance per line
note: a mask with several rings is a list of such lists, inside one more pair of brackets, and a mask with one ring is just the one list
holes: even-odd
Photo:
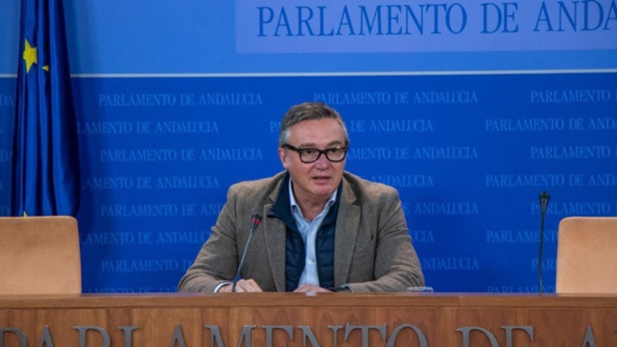
[(617, 293), (617, 217), (559, 223), (557, 293)]

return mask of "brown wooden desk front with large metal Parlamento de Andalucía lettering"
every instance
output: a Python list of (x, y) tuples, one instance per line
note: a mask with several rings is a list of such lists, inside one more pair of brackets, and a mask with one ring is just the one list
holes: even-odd
[(617, 346), (617, 296), (0, 296), (0, 346), (41, 345)]

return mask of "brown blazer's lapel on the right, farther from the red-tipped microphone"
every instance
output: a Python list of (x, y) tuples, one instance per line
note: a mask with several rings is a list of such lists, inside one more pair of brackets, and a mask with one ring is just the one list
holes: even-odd
[(346, 284), (347, 274), (354, 255), (354, 245), (360, 226), (360, 207), (354, 205), (356, 200), (353, 190), (343, 179), (343, 189), (339, 213), (336, 216), (336, 235), (334, 245), (334, 285)]

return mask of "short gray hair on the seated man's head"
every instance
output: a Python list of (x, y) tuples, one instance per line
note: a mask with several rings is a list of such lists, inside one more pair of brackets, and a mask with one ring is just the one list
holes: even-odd
[(292, 126), (301, 121), (319, 120), (322, 118), (333, 118), (337, 120), (345, 133), (345, 142), (349, 144), (349, 133), (347, 133), (345, 122), (334, 108), (322, 102), (304, 102), (290, 107), (283, 116), (281, 130), (278, 133), (278, 147), (283, 147), (283, 145), (287, 143), (289, 140), (289, 129), (291, 129)]

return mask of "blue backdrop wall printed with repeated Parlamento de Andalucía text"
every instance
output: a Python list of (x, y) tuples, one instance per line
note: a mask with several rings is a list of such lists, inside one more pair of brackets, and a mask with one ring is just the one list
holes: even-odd
[[(18, 2), (0, 4), (2, 215)], [(617, 214), (617, 6), (487, 4), (65, 1), (84, 292), (175, 291), (227, 187), (282, 169), (281, 116), (307, 100), (346, 120), (349, 171), (399, 190), (428, 285), (536, 292), (542, 266), (554, 291), (560, 219)]]

